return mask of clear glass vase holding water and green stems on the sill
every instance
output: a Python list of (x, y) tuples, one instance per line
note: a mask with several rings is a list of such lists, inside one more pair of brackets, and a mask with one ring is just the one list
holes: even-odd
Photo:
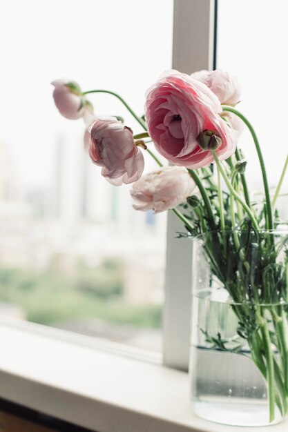
[(285, 418), (287, 283), (287, 232), (193, 239), (189, 375), (195, 414), (236, 426)]

